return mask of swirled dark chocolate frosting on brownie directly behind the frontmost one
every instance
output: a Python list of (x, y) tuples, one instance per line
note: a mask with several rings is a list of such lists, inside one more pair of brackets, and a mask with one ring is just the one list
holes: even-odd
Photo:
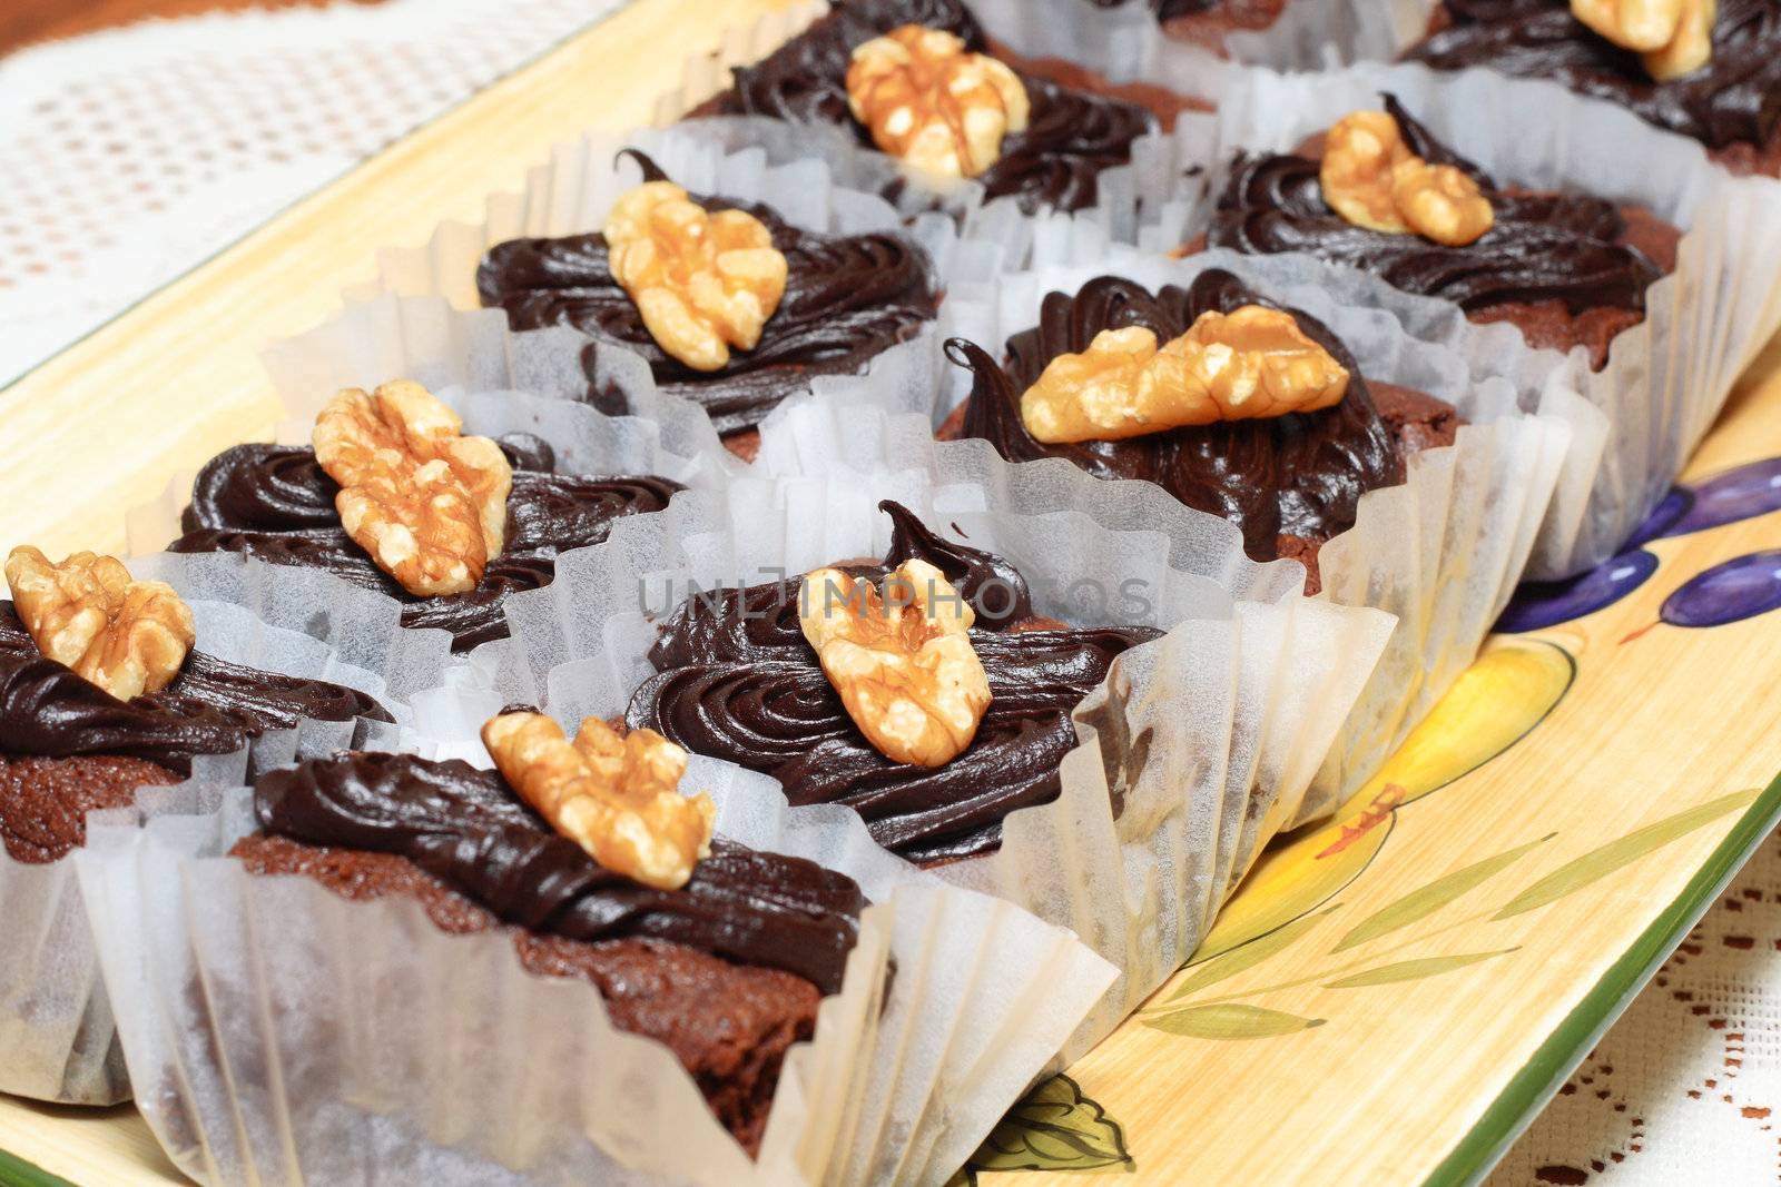
[(848, 717), (798, 623), (801, 580), (698, 594), (663, 623), (657, 674), (630, 698), (630, 726), (686, 749), (773, 776), (793, 804), (846, 804), (873, 838), (917, 863), (990, 852), (1003, 819), (1058, 797), (1058, 763), (1076, 747), (1070, 712), (1145, 626), (1076, 630), (1035, 619), (1026, 580), (1004, 559), (940, 539), (908, 509), (880, 564), (846, 571), (882, 580), (923, 559), (976, 607), (971, 644), (990, 683), (976, 739), (942, 767), (885, 758)]

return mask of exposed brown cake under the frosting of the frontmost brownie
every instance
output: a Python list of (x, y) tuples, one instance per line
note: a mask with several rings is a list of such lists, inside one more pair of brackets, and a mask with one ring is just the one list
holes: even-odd
[(787, 972), (732, 965), (661, 940), (586, 943), (506, 927), (490, 911), (395, 854), (246, 836), (230, 851), (249, 874), (297, 874), (353, 900), (415, 899), (447, 933), (502, 927), (540, 977), (581, 977), (620, 1030), (664, 1043), (718, 1121), (748, 1153), (760, 1146), (780, 1064), (816, 1030), (816, 986)]

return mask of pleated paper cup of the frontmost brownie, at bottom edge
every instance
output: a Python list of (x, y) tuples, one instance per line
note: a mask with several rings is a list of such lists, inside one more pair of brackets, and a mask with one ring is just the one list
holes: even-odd
[(848, 812), (702, 785), (718, 833), (855, 877), (873, 906), (755, 1160), (663, 1045), (511, 934), (440, 933), (219, 854), (208, 817), (96, 829), (82, 892), (137, 1103), (207, 1183), (939, 1183), (1040, 1073), (1113, 970), (1069, 933), (890, 861)]

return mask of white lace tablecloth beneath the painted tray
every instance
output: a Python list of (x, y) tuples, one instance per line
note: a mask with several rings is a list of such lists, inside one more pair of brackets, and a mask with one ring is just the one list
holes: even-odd
[[(0, 383), (616, 0), (151, 21), (0, 61)], [(1491, 1187), (1781, 1182), (1769, 838)]]

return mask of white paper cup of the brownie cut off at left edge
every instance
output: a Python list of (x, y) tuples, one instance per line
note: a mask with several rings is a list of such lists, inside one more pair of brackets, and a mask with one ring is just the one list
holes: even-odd
[[(381, 674), (349, 662), (337, 648), (271, 619), (256, 618), (226, 598), (235, 587), (260, 587), (242, 573), (219, 575), (223, 566), (132, 562), (137, 578), (173, 584), (192, 609), (198, 650), (233, 664), (312, 680), (331, 680), (385, 703), (394, 715)], [(240, 557), (230, 568), (246, 569)], [(253, 568), (271, 566), (253, 562)], [(363, 603), (354, 607), (363, 610)], [(358, 721), (303, 721), (274, 730), (232, 755), (198, 755), (192, 774), (173, 787), (144, 787), (134, 810), (96, 812), (89, 824), (128, 822), (166, 813), (212, 810), (226, 787), (249, 771), (264, 771), (299, 756), (326, 755), (372, 740), (394, 740), (399, 726)], [(0, 849), (0, 1093), (69, 1105), (112, 1105), (130, 1098), (112, 1011), (100, 982), (98, 961), (73, 856), (45, 865), (14, 861)]]

